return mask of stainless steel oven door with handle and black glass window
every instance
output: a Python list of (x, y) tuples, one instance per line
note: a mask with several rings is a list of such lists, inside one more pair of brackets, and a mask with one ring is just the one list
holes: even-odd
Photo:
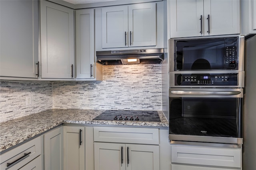
[(169, 139), (242, 144), (242, 88), (170, 88)]

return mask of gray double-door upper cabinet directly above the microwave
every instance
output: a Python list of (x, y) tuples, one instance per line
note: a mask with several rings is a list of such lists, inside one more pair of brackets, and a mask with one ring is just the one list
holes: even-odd
[(238, 0), (171, 0), (170, 38), (240, 34)]

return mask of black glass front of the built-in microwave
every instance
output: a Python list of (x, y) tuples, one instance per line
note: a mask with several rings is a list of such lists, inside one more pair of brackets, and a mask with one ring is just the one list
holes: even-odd
[[(232, 59), (230, 57), (225, 58), (226, 53), (229, 53), (229, 49), (226, 48), (231, 47), (236, 48), (236, 39), (234, 38), (177, 40), (174, 59), (175, 70), (231, 69), (225, 65), (225, 62), (231, 60), (236, 63), (236, 49), (234, 49), (235, 56), (231, 57)], [(230, 50), (230, 53), (232, 53), (232, 49)], [(234, 67), (236, 66), (234, 65)]]

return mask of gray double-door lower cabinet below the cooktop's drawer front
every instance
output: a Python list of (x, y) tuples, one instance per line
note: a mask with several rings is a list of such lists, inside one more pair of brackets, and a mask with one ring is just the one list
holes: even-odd
[(159, 170), (159, 146), (95, 142), (94, 170)]

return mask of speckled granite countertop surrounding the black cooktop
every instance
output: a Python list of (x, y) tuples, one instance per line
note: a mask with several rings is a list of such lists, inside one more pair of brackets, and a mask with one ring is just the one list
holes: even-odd
[(93, 120), (104, 111), (105, 110), (51, 109), (0, 123), (0, 152), (36, 135), (40, 135), (40, 133), (61, 125), (62, 123), (148, 127), (169, 126), (168, 120), (162, 111), (158, 111), (161, 122)]

